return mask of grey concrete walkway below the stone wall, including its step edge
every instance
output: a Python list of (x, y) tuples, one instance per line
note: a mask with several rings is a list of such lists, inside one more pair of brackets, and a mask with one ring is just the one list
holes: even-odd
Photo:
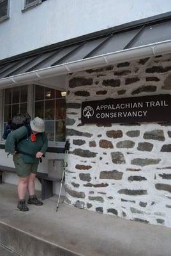
[(56, 196), (17, 210), (17, 188), (0, 186), (0, 243), (20, 256), (170, 256), (171, 228), (80, 210)]

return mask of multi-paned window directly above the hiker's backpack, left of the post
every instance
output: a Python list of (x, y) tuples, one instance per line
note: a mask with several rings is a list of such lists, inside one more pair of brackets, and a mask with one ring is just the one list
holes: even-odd
[(17, 113), (27, 112), (27, 85), (4, 90), (4, 126)]

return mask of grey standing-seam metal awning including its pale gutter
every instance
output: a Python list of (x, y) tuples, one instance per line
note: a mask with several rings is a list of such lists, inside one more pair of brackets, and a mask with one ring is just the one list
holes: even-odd
[(0, 85), (34, 81), (171, 52), (171, 20), (0, 61)]

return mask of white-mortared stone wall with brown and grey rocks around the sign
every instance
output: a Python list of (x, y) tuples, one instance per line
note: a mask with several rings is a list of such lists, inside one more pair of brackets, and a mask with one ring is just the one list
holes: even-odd
[(171, 54), (70, 74), (66, 202), (171, 227), (171, 122), (82, 125), (81, 102), (171, 93)]

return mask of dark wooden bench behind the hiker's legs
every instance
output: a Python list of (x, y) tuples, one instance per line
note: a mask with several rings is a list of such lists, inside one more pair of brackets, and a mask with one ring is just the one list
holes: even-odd
[[(0, 165), (0, 184), (3, 183), (3, 172), (16, 173), (15, 168)], [(47, 173), (37, 172), (36, 178), (41, 183), (41, 199), (47, 199), (53, 195), (53, 181), (61, 182), (61, 179), (54, 179), (48, 177)]]

